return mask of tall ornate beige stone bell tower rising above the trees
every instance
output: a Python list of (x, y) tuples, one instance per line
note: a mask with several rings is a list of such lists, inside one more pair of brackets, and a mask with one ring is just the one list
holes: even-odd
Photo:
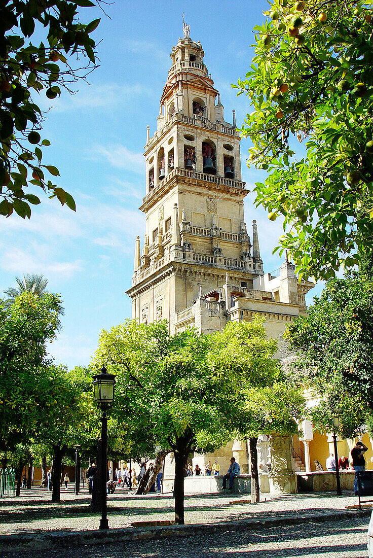
[(147, 128), (140, 207), (146, 234), (142, 247), (139, 238), (135, 243), (127, 293), (139, 322), (167, 319), (171, 333), (187, 324), (210, 333), (236, 319), (235, 297), (258, 304), (274, 297), (262, 296), (270, 282), (263, 277), (256, 221), (253, 246), (246, 230), (248, 190), (234, 111), (226, 122), (202, 45), (191, 40), (185, 23), (183, 31), (172, 47), (152, 137)]

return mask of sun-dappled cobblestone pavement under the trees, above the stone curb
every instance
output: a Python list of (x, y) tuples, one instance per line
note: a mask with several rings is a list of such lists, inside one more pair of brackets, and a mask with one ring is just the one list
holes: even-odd
[[(269, 519), (297, 514), (324, 514), (357, 507), (352, 493), (336, 497), (335, 493), (296, 494), (250, 504), (248, 494), (211, 494), (185, 498), (186, 523), (211, 523), (235, 519)], [(22, 490), (20, 498), (0, 499), (0, 533), (42, 533), (51, 531), (96, 530), (99, 514), (88, 510), (90, 496), (83, 490), (75, 496), (72, 487), (61, 490), (61, 502), (52, 504), (51, 493), (32, 488)], [(127, 490), (116, 490), (108, 497), (110, 528), (131, 523), (172, 520), (174, 501), (171, 495), (135, 496)]]

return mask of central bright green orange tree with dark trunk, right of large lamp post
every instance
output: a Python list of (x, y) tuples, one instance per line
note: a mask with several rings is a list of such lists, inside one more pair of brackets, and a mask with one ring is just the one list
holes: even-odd
[(258, 318), (212, 336), (190, 328), (170, 335), (166, 321), (131, 320), (101, 333), (95, 362), (117, 375), (113, 417), (129, 439), (142, 432), (175, 456), (176, 523), (184, 522), (188, 455), (245, 434), (245, 389), (273, 382), (275, 347)]

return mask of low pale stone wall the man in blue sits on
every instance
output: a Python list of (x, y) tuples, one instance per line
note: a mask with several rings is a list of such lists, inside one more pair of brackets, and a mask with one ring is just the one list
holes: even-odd
[[(222, 477), (185, 477), (184, 494), (217, 494), (222, 490)], [(163, 493), (173, 492), (174, 479), (166, 477), (163, 479)], [(229, 484), (227, 483), (227, 486)], [(251, 494), (250, 475), (239, 475), (234, 478), (233, 490), (236, 494)]]

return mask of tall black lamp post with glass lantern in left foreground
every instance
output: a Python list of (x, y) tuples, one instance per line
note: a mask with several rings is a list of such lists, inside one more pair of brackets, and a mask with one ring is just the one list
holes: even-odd
[(93, 377), (95, 401), (103, 412), (101, 422), (101, 521), (100, 529), (108, 529), (107, 501), (106, 501), (106, 470), (108, 464), (108, 417), (106, 410), (114, 400), (115, 376), (108, 374), (105, 366), (100, 374)]

